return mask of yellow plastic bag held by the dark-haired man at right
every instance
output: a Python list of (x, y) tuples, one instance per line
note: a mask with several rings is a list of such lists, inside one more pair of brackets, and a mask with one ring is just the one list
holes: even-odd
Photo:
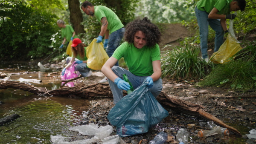
[(230, 20), (229, 34), (227, 35), (227, 40), (221, 45), (220, 49), (217, 52), (214, 52), (210, 58), (213, 63), (226, 63), (230, 61), (230, 58), (235, 58), (237, 52), (239, 52), (242, 47), (240, 42), (236, 39), (235, 32), (233, 29), (233, 21)]

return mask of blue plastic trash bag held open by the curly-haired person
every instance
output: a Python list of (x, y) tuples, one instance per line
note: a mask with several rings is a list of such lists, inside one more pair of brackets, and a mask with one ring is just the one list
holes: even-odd
[(116, 133), (122, 137), (148, 132), (168, 116), (168, 112), (156, 100), (146, 86), (137, 87), (122, 98), (109, 111), (108, 120), (116, 127)]

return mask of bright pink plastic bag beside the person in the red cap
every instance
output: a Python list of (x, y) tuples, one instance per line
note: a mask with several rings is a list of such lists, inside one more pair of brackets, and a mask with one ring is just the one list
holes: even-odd
[[(66, 69), (65, 74), (61, 75), (62, 81), (78, 77), (79, 73), (75, 72), (76, 65), (77, 64), (75, 64), (75, 62), (74, 62), (68, 69)], [(64, 82), (61, 83), (61, 85), (63, 85), (63, 84), (64, 84)], [(75, 83), (73, 81), (71, 81), (71, 82), (68, 82), (67, 84), (65, 84), (65, 86), (73, 87), (73, 86), (75, 86)]]

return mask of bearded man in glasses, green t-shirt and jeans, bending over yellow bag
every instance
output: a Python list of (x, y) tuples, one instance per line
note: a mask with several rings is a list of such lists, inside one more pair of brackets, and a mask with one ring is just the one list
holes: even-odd
[[(99, 37), (97, 37), (97, 43), (102, 42), (102, 37), (105, 35), (104, 48), (109, 56), (113, 55), (113, 52), (119, 46), (120, 41), (125, 33), (124, 25), (117, 15), (106, 6), (93, 6), (92, 3), (85, 1), (81, 5), (81, 9), (87, 15), (93, 17), (96, 16), (97, 20), (102, 24)], [(118, 62), (115, 64), (118, 66)], [(108, 82), (108, 78), (105, 77), (100, 83)]]

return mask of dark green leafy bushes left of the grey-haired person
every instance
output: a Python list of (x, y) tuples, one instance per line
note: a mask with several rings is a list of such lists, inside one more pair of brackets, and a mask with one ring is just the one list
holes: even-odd
[[(33, 9), (23, 0), (1, 2), (0, 15), (11, 17), (0, 29), (0, 57), (3, 59), (29, 60), (41, 58), (52, 52), (50, 40), (58, 26), (54, 14)], [(6, 49), (7, 48), (7, 49)]]

